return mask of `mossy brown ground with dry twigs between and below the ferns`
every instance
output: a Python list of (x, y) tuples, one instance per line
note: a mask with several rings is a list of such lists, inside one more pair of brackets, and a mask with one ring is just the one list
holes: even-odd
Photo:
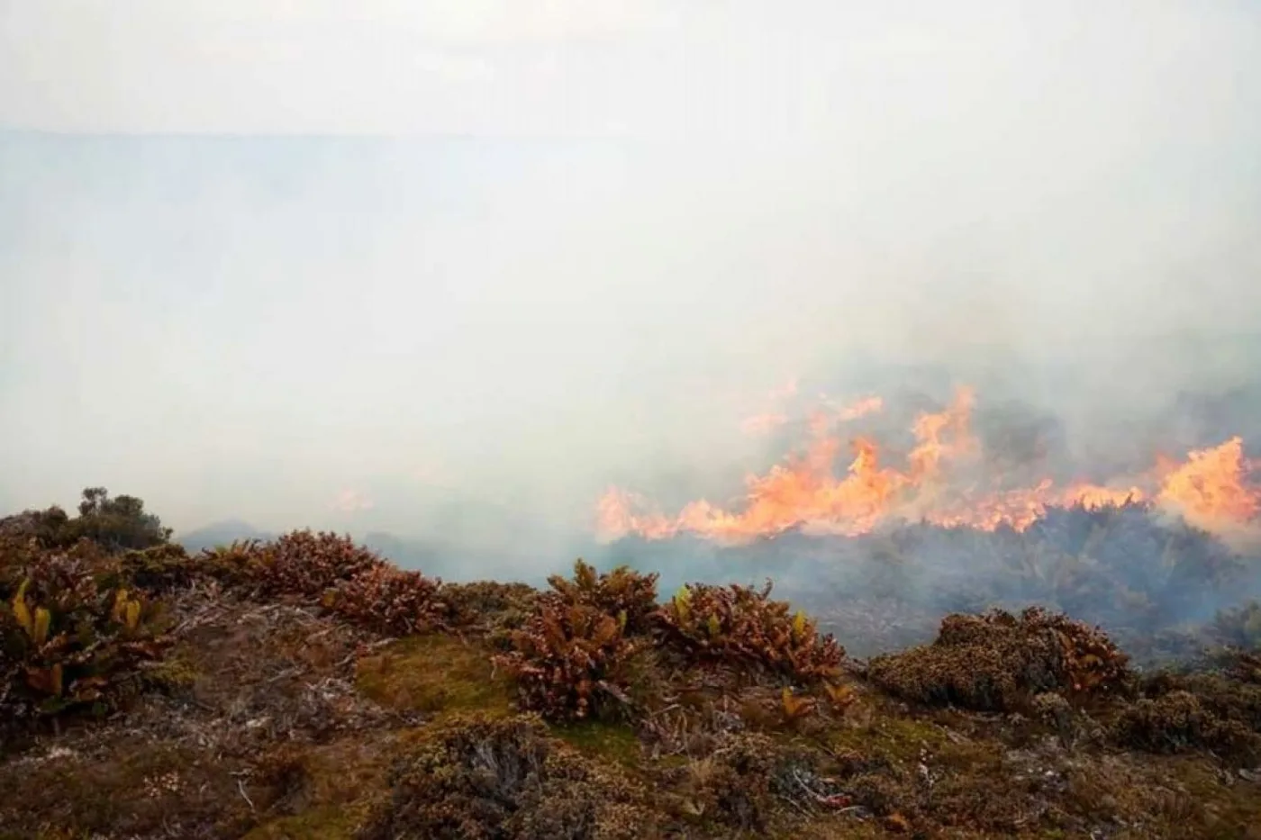
[(543, 723), (493, 661), (506, 598), (404, 638), (213, 579), (170, 599), (165, 689), (8, 745), (0, 837), (1261, 837), (1256, 764), (1129, 749), (1106, 709), (917, 705), (847, 660), (789, 714), (648, 647), (651, 709)]

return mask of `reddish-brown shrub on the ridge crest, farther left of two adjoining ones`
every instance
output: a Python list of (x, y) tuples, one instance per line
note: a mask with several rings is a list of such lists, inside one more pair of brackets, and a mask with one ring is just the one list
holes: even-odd
[(251, 564), (265, 595), (315, 598), (339, 581), (385, 565), (376, 552), (349, 536), (294, 531), (257, 545)]

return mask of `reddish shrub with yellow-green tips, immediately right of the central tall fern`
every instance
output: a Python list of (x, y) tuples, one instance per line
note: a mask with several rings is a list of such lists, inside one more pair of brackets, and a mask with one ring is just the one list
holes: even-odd
[(813, 681), (835, 676), (845, 656), (805, 613), (770, 600), (769, 583), (762, 590), (687, 584), (657, 617), (668, 639), (702, 661), (734, 661)]

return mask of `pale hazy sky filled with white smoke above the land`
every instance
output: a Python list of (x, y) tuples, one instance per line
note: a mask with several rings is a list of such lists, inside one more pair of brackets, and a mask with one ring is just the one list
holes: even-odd
[(863, 353), (1257, 327), (1258, 149), (1245, 1), (0, 0), (0, 506), (578, 522)]

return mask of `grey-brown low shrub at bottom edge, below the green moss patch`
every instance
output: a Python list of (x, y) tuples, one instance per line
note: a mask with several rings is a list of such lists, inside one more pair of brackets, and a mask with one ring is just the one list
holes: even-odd
[(390, 802), (362, 840), (652, 837), (643, 793), (547, 737), (536, 718), (453, 718), (391, 774)]

